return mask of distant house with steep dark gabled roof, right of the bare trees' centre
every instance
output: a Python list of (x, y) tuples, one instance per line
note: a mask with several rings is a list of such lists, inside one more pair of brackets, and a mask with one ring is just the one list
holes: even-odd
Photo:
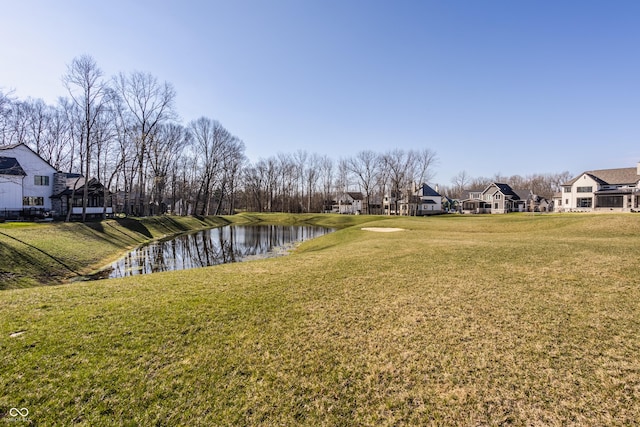
[(469, 191), (469, 197), (461, 201), (462, 213), (524, 212), (528, 208), (530, 194), (513, 190), (508, 184), (494, 182), (482, 191)]

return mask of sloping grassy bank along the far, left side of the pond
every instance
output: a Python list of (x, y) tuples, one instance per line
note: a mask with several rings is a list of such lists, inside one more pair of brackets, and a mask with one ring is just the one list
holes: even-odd
[(317, 223), (341, 227), (357, 221), (338, 215), (123, 218), (81, 223), (0, 224), (0, 290), (56, 285), (95, 272), (127, 249), (154, 239), (229, 223)]

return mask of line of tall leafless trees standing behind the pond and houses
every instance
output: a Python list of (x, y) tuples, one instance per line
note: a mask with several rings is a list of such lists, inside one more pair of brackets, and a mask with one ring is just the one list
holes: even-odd
[[(0, 145), (25, 143), (59, 171), (96, 177), (127, 215), (322, 212), (346, 191), (361, 192), (367, 210), (385, 194), (430, 183), (438, 162), (430, 149), (393, 149), (339, 160), (297, 151), (251, 163), (244, 142), (215, 119), (181, 123), (173, 86), (151, 74), (106, 78), (85, 55), (71, 62), (63, 82), (67, 96), (56, 105), (0, 91)], [(438, 190), (463, 197), (466, 188), (499, 181), (550, 197), (568, 178), (461, 172)]]

